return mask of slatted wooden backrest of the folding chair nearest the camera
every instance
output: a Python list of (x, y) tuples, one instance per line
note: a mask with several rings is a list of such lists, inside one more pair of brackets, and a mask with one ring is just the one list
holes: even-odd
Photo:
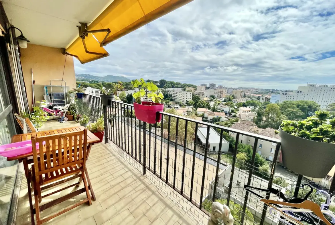
[[(87, 150), (87, 129), (84, 129), (82, 131), (52, 134), (41, 137), (33, 136), (31, 138), (31, 142), (32, 142), (32, 152), (34, 155), (36, 178), (44, 173), (50, 173), (51, 178), (53, 178), (54, 171), (56, 170), (62, 171), (63, 168), (67, 170), (66, 167), (70, 167), (70, 171), (76, 170), (77, 167), (74, 166), (75, 165), (74, 161), (78, 160), (79, 160), (78, 163), (82, 163), (79, 166), (80, 169), (82, 171), (83, 169), (85, 169), (86, 150)], [(43, 142), (45, 142), (45, 145), (43, 145)], [(40, 148), (39, 150), (36, 150), (36, 144), (34, 143), (39, 143)], [(73, 147), (74, 151), (72, 149)], [(44, 155), (46, 155), (46, 160), (44, 158)], [(41, 162), (40, 168), (38, 166), (39, 162)], [(48, 177), (50, 177), (49, 174)]]

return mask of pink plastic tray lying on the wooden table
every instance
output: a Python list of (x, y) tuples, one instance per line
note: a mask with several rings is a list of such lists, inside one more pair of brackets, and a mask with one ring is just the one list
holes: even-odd
[[(26, 144), (30, 144), (30, 146), (21, 147)], [(43, 142), (43, 145), (45, 145), (45, 142)], [(11, 148), (11, 147), (15, 147), (16, 149), (4, 151), (6, 148)], [(21, 147), (21, 148), (18, 148), (18, 147)], [(36, 149), (39, 149), (39, 143), (36, 143)], [(10, 144), (0, 146), (0, 155), (3, 157), (19, 156), (19, 155), (27, 154), (29, 152), (32, 152), (31, 140), (25, 140), (24, 142), (16, 142), (16, 143), (10, 143)]]

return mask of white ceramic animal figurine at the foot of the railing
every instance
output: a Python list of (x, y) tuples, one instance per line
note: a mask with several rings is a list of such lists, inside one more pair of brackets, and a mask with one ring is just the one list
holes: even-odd
[(212, 203), (212, 213), (210, 215), (208, 225), (218, 225), (222, 221), (226, 225), (234, 224), (234, 217), (230, 214), (230, 209), (226, 205), (222, 205), (218, 202)]

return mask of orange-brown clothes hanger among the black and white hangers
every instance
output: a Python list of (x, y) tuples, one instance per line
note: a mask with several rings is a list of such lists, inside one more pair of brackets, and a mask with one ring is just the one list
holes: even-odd
[[(298, 204), (289, 203), (289, 202), (275, 201), (275, 200), (271, 200), (271, 199), (261, 199), (260, 202), (264, 202), (264, 203), (266, 203), (267, 205), (270, 205), (270, 206), (271, 206), (271, 204), (275, 204), (275, 205), (290, 206), (290, 207), (295, 207), (295, 208), (300, 208), (300, 209), (308, 209), (308, 210), (311, 210), (313, 213), (315, 213), (315, 215), (317, 215), (320, 218), (320, 220), (325, 222), (327, 225), (332, 225), (327, 220), (327, 218), (323, 215), (323, 213), (321, 212), (320, 206), (318, 204), (316, 204), (315, 202), (312, 202), (310, 200), (305, 200), (304, 202), (298, 203)], [(285, 213), (285, 215), (287, 215), (287, 214)], [(293, 219), (292, 217), (290, 217), (290, 218)], [(293, 220), (295, 220), (296, 222), (299, 222), (296, 219), (293, 219)], [(301, 222), (299, 222), (299, 223), (301, 223)]]

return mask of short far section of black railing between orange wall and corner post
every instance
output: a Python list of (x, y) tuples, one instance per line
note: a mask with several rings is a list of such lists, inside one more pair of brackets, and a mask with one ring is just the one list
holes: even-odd
[(94, 95), (83, 95), (82, 99), (76, 99), (78, 107), (78, 113), (89, 117), (89, 123), (96, 122), (101, 116), (103, 116), (103, 105), (101, 98)]

